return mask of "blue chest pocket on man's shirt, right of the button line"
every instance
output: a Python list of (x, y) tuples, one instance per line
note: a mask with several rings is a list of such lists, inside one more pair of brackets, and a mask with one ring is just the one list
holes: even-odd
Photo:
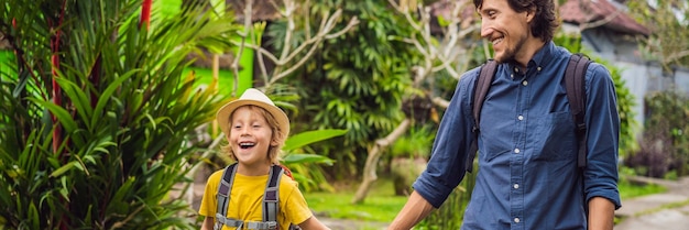
[(575, 123), (568, 111), (548, 113), (534, 123), (534, 161), (572, 161), (577, 146)]

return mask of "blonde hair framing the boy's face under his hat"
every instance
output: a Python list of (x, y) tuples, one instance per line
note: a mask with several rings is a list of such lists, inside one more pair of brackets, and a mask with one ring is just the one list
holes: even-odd
[[(267, 110), (259, 107), (259, 106), (254, 106), (254, 105), (244, 105), (244, 106), (240, 106), (237, 107), (234, 109), (234, 111), (237, 111), (237, 109), (245, 107), (248, 109), (250, 109), (251, 111), (259, 113), (260, 116), (262, 116), (265, 119), (265, 122), (269, 124), (269, 127), (271, 128), (272, 131), (272, 135), (271, 135), (271, 141), (275, 141), (277, 143), (277, 145), (270, 145), (267, 149), (267, 158), (271, 161), (271, 163), (273, 164), (280, 164), (281, 161), (281, 155), (282, 155), (282, 147), (285, 145), (285, 133), (282, 132), (282, 130), (280, 130), (280, 123), (277, 122), (277, 119), (275, 119), (275, 117), (273, 117), (273, 114), (271, 114)], [(232, 121), (232, 116), (234, 116), (234, 111), (232, 111), (232, 113), (230, 114), (230, 122)], [(231, 125), (231, 123), (227, 123), (223, 125)], [(229, 133), (227, 133), (227, 136), (230, 135), (230, 133), (232, 133), (232, 129), (228, 130)], [(222, 146), (222, 151), (228, 153), (230, 155), (230, 158), (232, 158), (232, 161), (237, 161), (237, 156), (234, 155), (234, 152), (232, 151), (232, 147), (230, 146), (230, 144), (228, 143), (227, 145)]]

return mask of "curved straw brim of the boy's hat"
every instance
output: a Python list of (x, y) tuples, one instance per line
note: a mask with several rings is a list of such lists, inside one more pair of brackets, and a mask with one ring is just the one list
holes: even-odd
[(222, 130), (226, 136), (230, 135), (230, 116), (232, 114), (232, 112), (237, 110), (237, 108), (248, 105), (258, 106), (265, 109), (277, 121), (280, 130), (284, 133), (284, 139), (289, 135), (289, 118), (287, 118), (287, 114), (285, 114), (282, 109), (260, 100), (237, 99), (222, 106), (216, 114), (218, 125), (220, 125), (220, 130)]

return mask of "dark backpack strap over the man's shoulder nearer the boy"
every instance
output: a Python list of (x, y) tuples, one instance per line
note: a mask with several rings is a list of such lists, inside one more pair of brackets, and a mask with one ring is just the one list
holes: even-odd
[(491, 88), (491, 83), (493, 81), (493, 76), (495, 76), (495, 72), (497, 70), (497, 62), (494, 59), (489, 59), (483, 64), (479, 70), (479, 79), (475, 80), (475, 86), (473, 87), (473, 129), (471, 132), (473, 133), (473, 141), (471, 142), (471, 146), (469, 149), (469, 155), (467, 156), (467, 172), (471, 173), (473, 171), (473, 158), (477, 155), (477, 151), (479, 151), (479, 122), (481, 116), (481, 107), (483, 107), (483, 101), (485, 100), (485, 95), (488, 95), (488, 90)]

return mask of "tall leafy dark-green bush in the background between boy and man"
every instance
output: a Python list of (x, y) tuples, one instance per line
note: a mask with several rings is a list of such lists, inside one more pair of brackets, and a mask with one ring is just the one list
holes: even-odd
[[(295, 37), (318, 26), (321, 12), (330, 9), (342, 9), (342, 20), (356, 17), (360, 23), (343, 36), (324, 43), (289, 83), (303, 98), (295, 119), (300, 127), (296, 129), (349, 130), (343, 138), (314, 150), (337, 162), (331, 175), (347, 177), (363, 167), (368, 146), (403, 118), (400, 98), (411, 84), (411, 66), (418, 54), (411, 45), (393, 39), (406, 37), (411, 29), (400, 26), (405, 21), (386, 1), (311, 2), (314, 13), (304, 15), (300, 22), (314, 24), (302, 29), (305, 32), (294, 34)], [(286, 29), (286, 22), (278, 22), (269, 28), (269, 34), (283, 37)]]

